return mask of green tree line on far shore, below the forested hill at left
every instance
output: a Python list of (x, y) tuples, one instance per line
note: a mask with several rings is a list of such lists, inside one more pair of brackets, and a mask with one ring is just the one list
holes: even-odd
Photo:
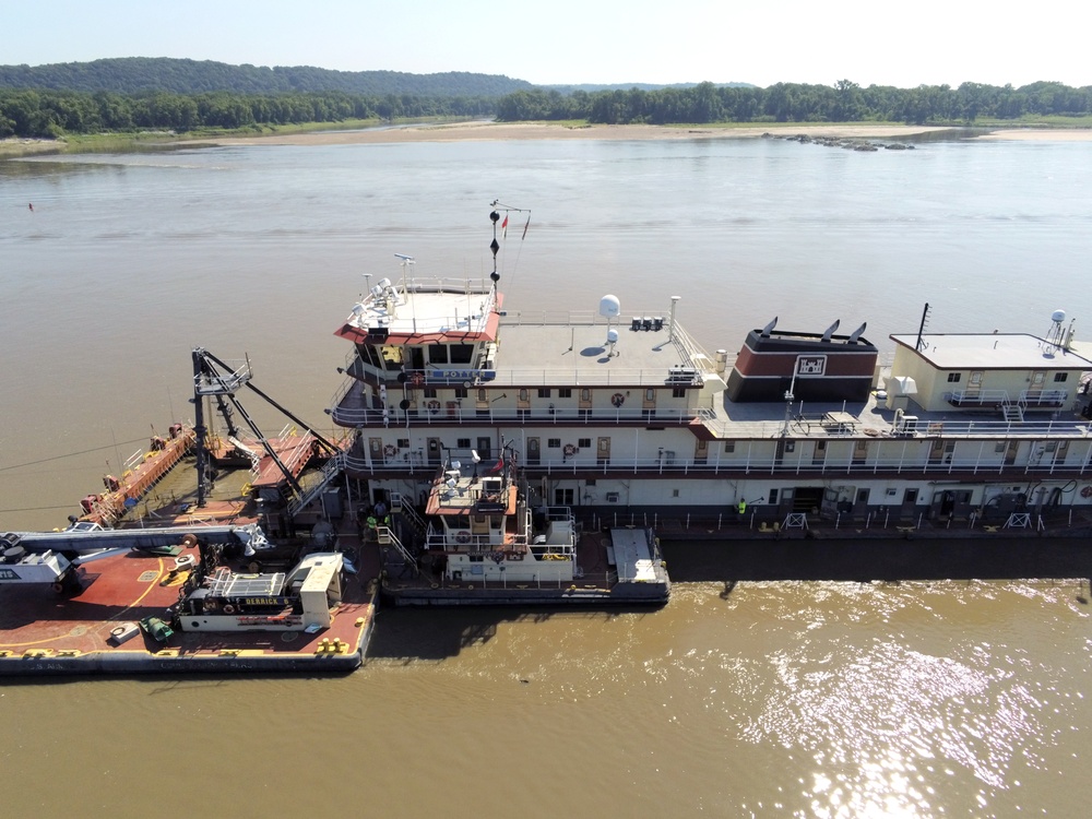
[(117, 94), (0, 88), (0, 139), (56, 138), (104, 131), (182, 133), (206, 128), (343, 122), (348, 119), (491, 117), (495, 112), (496, 97), (487, 96), (367, 96), (341, 92)]

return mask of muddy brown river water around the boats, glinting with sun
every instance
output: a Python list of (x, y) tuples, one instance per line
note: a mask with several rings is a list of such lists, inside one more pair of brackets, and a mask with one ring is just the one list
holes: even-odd
[[(769, 140), (189, 149), (0, 163), (0, 530), (64, 525), (189, 418), (189, 352), (329, 428), (366, 287), (490, 270), (510, 310), (1045, 332), (1088, 306), (1092, 152)], [(34, 204), (33, 212), (28, 204)], [(248, 404), (249, 407), (249, 404)], [(268, 430), (283, 419), (252, 410)], [(701, 579), (661, 610), (382, 612), (335, 678), (0, 686), (9, 816), (1070, 817), (1088, 580)]]

